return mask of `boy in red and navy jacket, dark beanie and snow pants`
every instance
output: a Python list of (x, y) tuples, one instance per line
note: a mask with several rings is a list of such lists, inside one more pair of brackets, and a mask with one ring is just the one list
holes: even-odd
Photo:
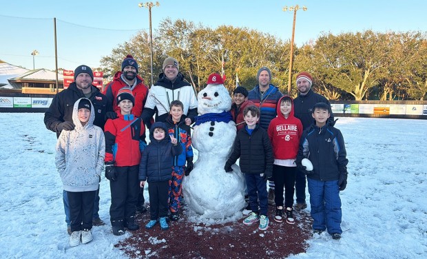
[(110, 220), (116, 236), (125, 234), (125, 227), (139, 229), (135, 222), (139, 161), (146, 143), (143, 121), (131, 113), (134, 102), (132, 90), (123, 87), (116, 98), (121, 113), (105, 123), (105, 177), (110, 180)]

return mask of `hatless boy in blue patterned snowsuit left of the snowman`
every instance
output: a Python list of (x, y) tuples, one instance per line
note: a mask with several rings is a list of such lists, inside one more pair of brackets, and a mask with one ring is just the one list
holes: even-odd
[[(179, 101), (171, 101), (169, 116), (166, 118), (168, 134), (174, 136), (178, 145), (183, 147), (183, 153), (174, 156), (172, 166), (172, 179), (169, 185), (169, 211), (171, 220), (179, 219), (181, 206), (181, 194), (183, 191), (183, 177), (188, 176), (193, 169), (193, 149), (191, 148), (191, 128), (185, 124), (184, 104)], [(187, 162), (187, 166), (185, 163)]]

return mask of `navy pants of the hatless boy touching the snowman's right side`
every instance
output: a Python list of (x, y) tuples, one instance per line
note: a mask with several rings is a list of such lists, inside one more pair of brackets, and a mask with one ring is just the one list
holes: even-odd
[(249, 194), (249, 205), (253, 212), (258, 213), (258, 200), (260, 201), (260, 215), (267, 216), (269, 201), (267, 194), (267, 181), (260, 174), (244, 174)]

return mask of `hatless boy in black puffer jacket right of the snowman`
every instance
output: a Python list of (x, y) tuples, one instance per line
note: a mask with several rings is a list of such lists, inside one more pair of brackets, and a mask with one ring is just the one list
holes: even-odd
[[(240, 157), (240, 169), (246, 179), (249, 205), (252, 212), (243, 220), (244, 225), (260, 221), (258, 229), (269, 228), (267, 210), (267, 178), (273, 175), (273, 151), (267, 132), (258, 125), (260, 109), (256, 106), (246, 107), (243, 111), (246, 127), (237, 133), (233, 153), (225, 163), (225, 172), (231, 172), (231, 165)], [(258, 211), (258, 200), (261, 211)], [(261, 215), (261, 216), (260, 216)]]

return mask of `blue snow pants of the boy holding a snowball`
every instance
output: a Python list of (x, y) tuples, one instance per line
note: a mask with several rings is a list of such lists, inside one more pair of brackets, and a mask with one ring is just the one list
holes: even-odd
[(309, 182), (313, 229), (328, 230), (329, 234), (342, 234), (341, 199), (338, 180), (313, 180)]

